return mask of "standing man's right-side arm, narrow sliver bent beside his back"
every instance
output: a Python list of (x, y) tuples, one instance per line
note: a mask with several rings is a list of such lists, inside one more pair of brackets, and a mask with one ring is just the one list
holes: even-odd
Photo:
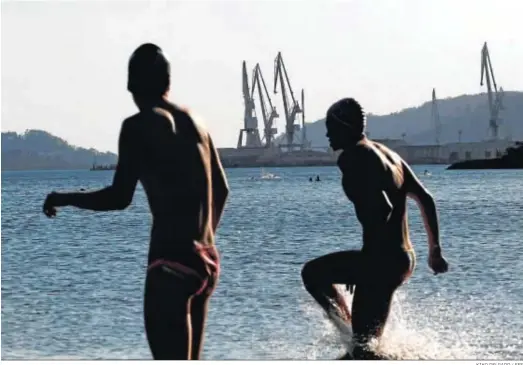
[(211, 150), (211, 170), (212, 170), (212, 189), (213, 189), (213, 212), (212, 225), (216, 232), (220, 219), (223, 215), (225, 202), (229, 195), (229, 184), (218, 151), (214, 147), (214, 143), (209, 135), (209, 147)]

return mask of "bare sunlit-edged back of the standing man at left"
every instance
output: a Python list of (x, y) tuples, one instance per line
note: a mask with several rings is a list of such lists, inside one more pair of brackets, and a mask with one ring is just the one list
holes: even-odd
[(219, 160), (209, 134), (167, 102), (128, 123), (153, 215), (150, 260), (172, 256), (194, 242), (213, 245), (212, 164)]

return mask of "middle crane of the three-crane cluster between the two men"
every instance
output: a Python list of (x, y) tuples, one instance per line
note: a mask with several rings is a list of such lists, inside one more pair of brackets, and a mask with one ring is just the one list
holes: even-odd
[[(274, 119), (278, 118), (279, 115), (276, 112), (276, 108), (272, 105), (271, 97), (267, 91), (267, 85), (265, 84), (265, 79), (261, 72), (260, 64), (257, 63), (254, 67), (253, 77), (252, 77), (252, 89), (251, 89), (251, 99), (254, 101), (254, 92), (256, 86), (258, 86), (258, 95), (260, 98), (260, 107), (263, 117), (263, 139), (262, 142), (265, 142), (265, 147), (271, 147), (274, 141), (274, 136), (278, 132), (276, 128), (273, 128)], [(267, 104), (266, 104), (267, 102)], [(269, 108), (267, 108), (267, 106)]]

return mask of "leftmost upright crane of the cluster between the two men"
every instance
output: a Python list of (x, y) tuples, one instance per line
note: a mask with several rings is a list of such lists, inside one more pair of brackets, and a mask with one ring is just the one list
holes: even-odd
[[(243, 116), (243, 128), (240, 129), (240, 135), (238, 136), (238, 148), (261, 147), (260, 133), (258, 131), (258, 119), (256, 118), (254, 100), (251, 97), (249, 89), (249, 78), (247, 76), (247, 65), (245, 61), (243, 61), (242, 68), (242, 84), (245, 110)], [(243, 144), (244, 134), (246, 134), (245, 145)]]

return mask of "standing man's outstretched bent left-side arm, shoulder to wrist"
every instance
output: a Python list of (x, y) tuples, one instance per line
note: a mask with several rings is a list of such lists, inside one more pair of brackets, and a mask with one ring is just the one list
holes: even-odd
[(112, 185), (101, 190), (85, 193), (59, 194), (59, 205), (72, 205), (80, 209), (94, 211), (122, 210), (127, 208), (133, 199), (138, 183), (138, 161), (133, 148), (134, 132), (130, 120), (124, 121), (118, 142), (118, 164)]

